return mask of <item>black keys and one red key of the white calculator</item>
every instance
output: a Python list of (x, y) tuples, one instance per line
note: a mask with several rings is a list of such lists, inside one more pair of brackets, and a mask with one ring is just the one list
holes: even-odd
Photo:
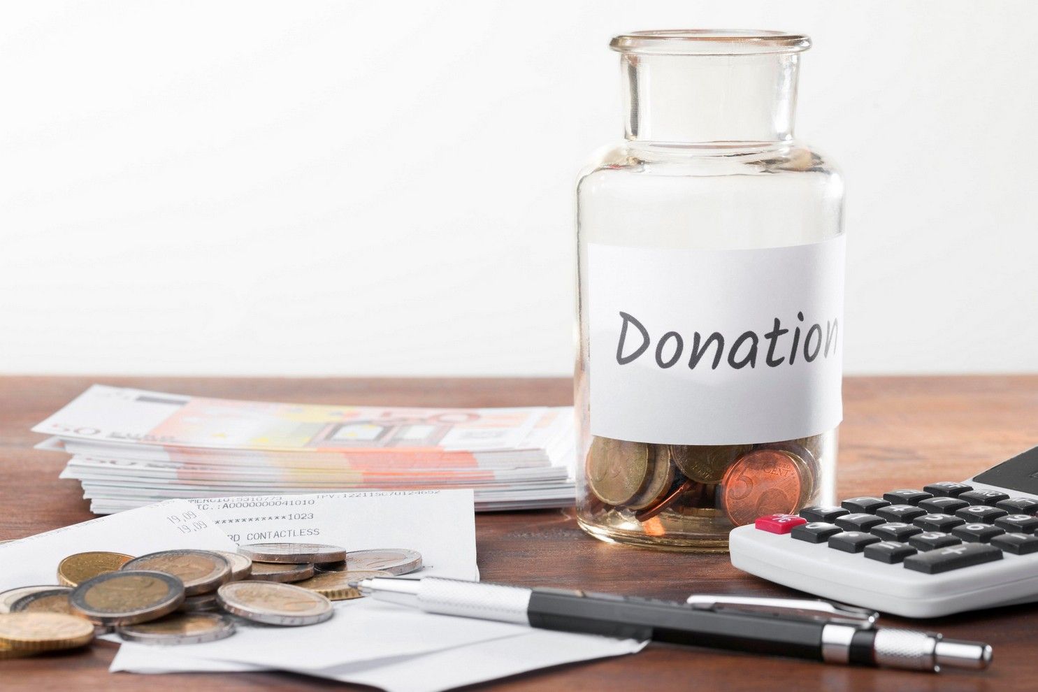
[(923, 574), (1000, 560), (1004, 552), (1038, 554), (1038, 500), (953, 481), (762, 517), (756, 526)]

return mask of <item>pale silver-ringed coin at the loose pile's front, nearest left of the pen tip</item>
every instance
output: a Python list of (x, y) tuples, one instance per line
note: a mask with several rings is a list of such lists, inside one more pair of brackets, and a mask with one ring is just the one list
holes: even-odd
[(334, 612), (325, 597), (292, 584), (233, 581), (216, 594), (228, 613), (266, 625), (317, 625)]

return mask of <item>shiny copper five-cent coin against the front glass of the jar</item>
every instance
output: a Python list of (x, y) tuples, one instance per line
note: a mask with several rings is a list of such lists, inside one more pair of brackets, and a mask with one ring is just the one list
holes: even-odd
[(725, 514), (736, 526), (765, 515), (795, 513), (804, 486), (810, 485), (807, 465), (780, 449), (748, 451), (729, 468), (721, 480)]

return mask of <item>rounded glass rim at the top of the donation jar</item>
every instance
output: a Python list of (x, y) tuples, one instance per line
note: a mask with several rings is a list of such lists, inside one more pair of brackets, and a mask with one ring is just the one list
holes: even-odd
[(654, 55), (799, 53), (811, 48), (811, 38), (767, 29), (658, 29), (613, 36), (609, 48)]

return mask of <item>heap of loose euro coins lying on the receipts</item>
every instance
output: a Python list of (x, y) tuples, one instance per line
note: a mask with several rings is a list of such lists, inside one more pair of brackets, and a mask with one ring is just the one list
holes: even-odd
[(165, 550), (140, 557), (70, 555), (58, 584), (0, 592), (0, 659), (84, 646), (95, 634), (153, 644), (223, 639), (239, 618), (298, 627), (323, 622), (355, 583), (421, 568), (408, 549), (347, 552), (337, 546), (267, 543), (220, 550)]

